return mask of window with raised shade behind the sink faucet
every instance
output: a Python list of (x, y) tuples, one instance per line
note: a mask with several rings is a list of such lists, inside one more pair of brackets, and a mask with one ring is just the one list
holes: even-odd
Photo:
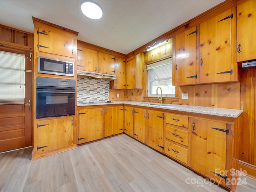
[(163, 96), (175, 97), (175, 86), (172, 86), (172, 58), (149, 64), (147, 70), (148, 96), (156, 96), (156, 89), (160, 87)]

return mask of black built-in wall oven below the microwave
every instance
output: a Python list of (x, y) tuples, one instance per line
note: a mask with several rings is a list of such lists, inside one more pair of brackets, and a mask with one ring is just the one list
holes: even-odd
[(76, 107), (75, 81), (36, 78), (36, 118), (74, 115)]

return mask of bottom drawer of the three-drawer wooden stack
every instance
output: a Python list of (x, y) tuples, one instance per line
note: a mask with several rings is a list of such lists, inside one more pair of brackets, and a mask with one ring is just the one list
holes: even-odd
[(165, 153), (181, 162), (188, 164), (188, 150), (186, 148), (165, 141)]

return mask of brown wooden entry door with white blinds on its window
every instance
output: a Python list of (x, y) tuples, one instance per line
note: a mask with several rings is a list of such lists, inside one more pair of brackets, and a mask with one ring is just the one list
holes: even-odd
[(0, 48), (0, 152), (32, 144), (32, 53)]

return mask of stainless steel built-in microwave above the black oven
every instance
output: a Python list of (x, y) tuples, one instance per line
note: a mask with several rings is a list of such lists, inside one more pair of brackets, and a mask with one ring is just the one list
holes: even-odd
[(38, 56), (38, 73), (74, 77), (74, 62)]

